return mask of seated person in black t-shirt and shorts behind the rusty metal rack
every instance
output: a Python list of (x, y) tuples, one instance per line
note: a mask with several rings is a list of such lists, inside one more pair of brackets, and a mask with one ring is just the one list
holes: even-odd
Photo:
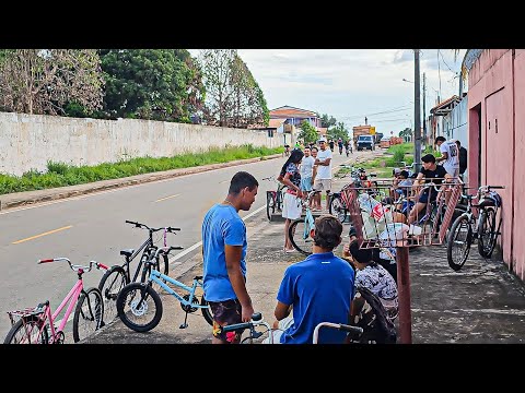
[[(441, 184), (443, 180), (452, 180), (452, 176), (448, 175), (441, 165), (435, 164), (435, 157), (432, 154), (427, 154), (421, 158), (422, 168), (419, 171), (416, 180), (413, 181), (412, 189), (417, 192), (416, 204), (410, 210), (410, 214), (407, 218), (407, 224), (413, 224), (418, 222), (420, 217), (420, 212), (427, 206), (428, 202), (434, 202), (438, 196), (438, 191), (434, 187), (424, 188), (419, 192), (419, 187), (423, 183), (434, 182), (435, 184)], [(429, 198), (430, 195), (430, 198)]]

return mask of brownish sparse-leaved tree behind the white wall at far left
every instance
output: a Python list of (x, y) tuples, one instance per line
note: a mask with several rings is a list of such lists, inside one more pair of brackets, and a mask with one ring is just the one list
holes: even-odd
[(0, 107), (8, 111), (65, 115), (78, 103), (88, 112), (102, 106), (104, 81), (92, 49), (0, 50)]

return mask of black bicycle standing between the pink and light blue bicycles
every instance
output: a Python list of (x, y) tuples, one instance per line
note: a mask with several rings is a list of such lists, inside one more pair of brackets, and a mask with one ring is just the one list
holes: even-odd
[[(144, 283), (151, 271), (151, 266), (147, 267), (145, 261), (151, 258), (151, 254), (154, 253), (159, 247), (155, 246), (153, 240), (153, 234), (156, 231), (163, 231), (163, 246), (166, 247), (166, 234), (175, 234), (176, 231), (180, 230), (180, 228), (172, 228), (172, 227), (164, 227), (164, 228), (151, 228), (145, 224), (140, 224), (137, 222), (126, 221), (127, 224), (135, 225), (137, 228), (144, 228), (148, 229), (149, 236), (148, 239), (140, 246), (137, 250), (135, 249), (126, 249), (120, 250), (120, 255), (125, 258), (125, 262), (121, 265), (113, 265), (101, 278), (98, 283), (98, 289), (101, 290), (102, 295), (104, 296), (105, 302), (105, 312), (104, 319), (106, 322), (110, 322), (116, 317), (116, 308), (115, 301), (117, 300), (118, 293), (129, 283), (137, 282), (139, 277), (139, 273), (141, 273), (140, 282)], [(130, 272), (130, 264), (137, 255), (142, 251), (142, 255), (140, 257), (139, 264), (133, 274), (133, 278), (131, 279), (131, 272)], [(167, 275), (168, 273), (168, 260), (167, 255), (163, 255), (162, 260), (156, 260), (155, 264), (153, 265), (160, 272), (163, 272)]]

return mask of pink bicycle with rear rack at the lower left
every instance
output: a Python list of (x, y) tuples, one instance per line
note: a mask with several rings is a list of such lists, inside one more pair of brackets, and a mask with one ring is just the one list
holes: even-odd
[[(11, 330), (8, 332), (3, 344), (63, 344), (66, 341), (63, 329), (75, 305), (73, 314), (74, 343), (104, 326), (102, 294), (95, 287), (84, 290), (82, 275), (90, 272), (93, 266), (104, 270), (107, 270), (107, 266), (95, 261), (90, 261), (88, 266), (74, 265), (67, 258), (44, 259), (39, 260), (38, 264), (58, 261), (67, 261), (71, 270), (78, 274), (79, 279), (52, 313), (49, 300), (34, 308), (8, 311)], [(66, 305), (68, 305), (68, 308), (57, 327), (57, 318)]]

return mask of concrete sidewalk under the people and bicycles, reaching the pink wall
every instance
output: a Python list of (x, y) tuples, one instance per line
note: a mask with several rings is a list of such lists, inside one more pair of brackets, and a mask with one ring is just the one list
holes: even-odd
[[(340, 189), (341, 183), (334, 187)], [(284, 253), (283, 224), (269, 223), (262, 211), (246, 222), (248, 231), (247, 289), (256, 311), (273, 320), (276, 295), (287, 266), (304, 259)], [(348, 241), (348, 225), (343, 241)], [(336, 249), (340, 254), (342, 246)], [(525, 286), (497, 260), (485, 260), (476, 247), (459, 272), (448, 267), (443, 246), (410, 250), (411, 322), (413, 344), (511, 344), (525, 338)], [(172, 269), (171, 275), (190, 283), (202, 273), (202, 258)], [(188, 314), (178, 301), (161, 295), (164, 312), (160, 324), (148, 333), (136, 333), (118, 319), (86, 338), (85, 344), (209, 344), (211, 327), (199, 311)]]

